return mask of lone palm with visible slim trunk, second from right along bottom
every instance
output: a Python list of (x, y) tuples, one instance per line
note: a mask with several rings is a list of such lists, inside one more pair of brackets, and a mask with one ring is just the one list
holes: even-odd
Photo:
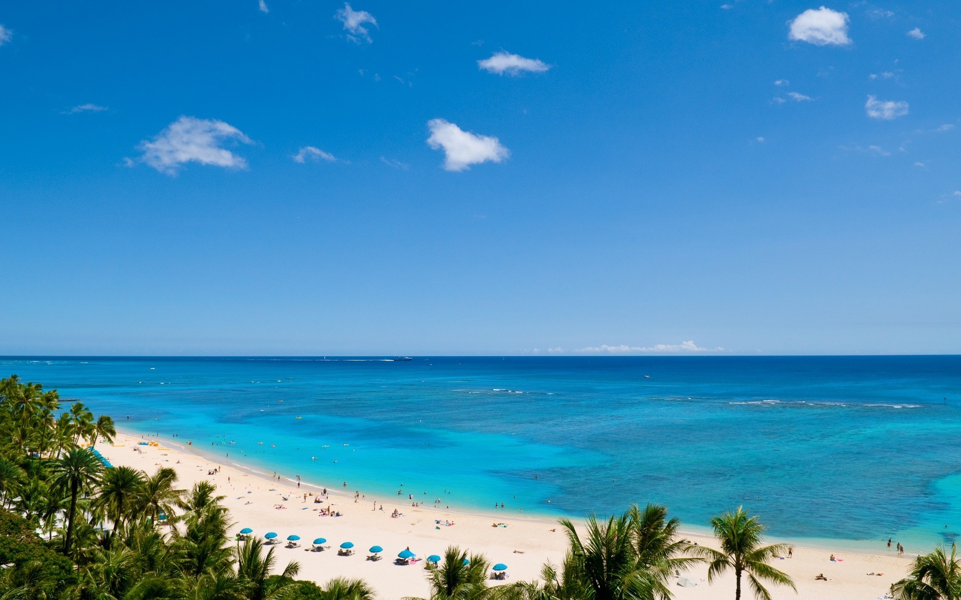
[(733, 569), (736, 581), (734, 600), (741, 600), (741, 576), (745, 573), (748, 574), (748, 584), (754, 596), (760, 600), (771, 600), (771, 593), (761, 585), (762, 580), (798, 590), (787, 573), (767, 563), (787, 552), (787, 544), (761, 545), (764, 525), (757, 516), (749, 516), (744, 507), (738, 507), (733, 513), (728, 512), (712, 518), (711, 526), (714, 527), (714, 536), (721, 542), (721, 550), (702, 546), (696, 548), (708, 561), (708, 583), (727, 569)]

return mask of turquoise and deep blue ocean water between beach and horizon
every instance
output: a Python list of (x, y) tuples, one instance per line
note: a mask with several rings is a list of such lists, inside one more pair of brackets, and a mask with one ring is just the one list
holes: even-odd
[(866, 544), (961, 531), (959, 356), (8, 357), (0, 372), (368, 495), (571, 516), (653, 501), (695, 526), (743, 504), (775, 536)]

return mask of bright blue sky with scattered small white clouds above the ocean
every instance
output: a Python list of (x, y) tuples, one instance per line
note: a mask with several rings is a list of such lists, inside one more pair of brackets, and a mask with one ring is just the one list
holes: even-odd
[(961, 5), (0, 7), (0, 354), (961, 353)]

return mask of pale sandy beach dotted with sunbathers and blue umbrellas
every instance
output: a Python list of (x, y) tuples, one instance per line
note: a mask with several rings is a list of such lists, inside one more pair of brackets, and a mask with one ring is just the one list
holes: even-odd
[[(140, 442), (160, 445), (139, 445)], [(339, 481), (329, 482), (328, 495), (321, 496), (322, 501), (317, 503), (314, 499), (322, 489), (308, 485), (298, 489), (296, 482), (271, 480), (269, 473), (262, 476), (238, 468), (230, 458), (225, 458), (223, 463), (213, 462), (190, 452), (192, 448), (188, 446), (131, 432), (120, 432), (112, 445), (98, 444), (97, 448), (114, 466), (141, 468), (148, 473), (160, 467), (175, 468), (181, 488), (209, 480), (226, 496), (225, 504), (231, 511), (236, 531), (249, 527), (254, 530), (253, 535), (261, 537), (267, 532), (276, 532), (277, 540), (286, 540), (289, 535), (300, 536), (298, 548), (287, 548), (285, 541), (274, 546), (282, 568), (289, 561), (297, 561), (301, 565), (299, 578), (318, 583), (334, 576), (360, 577), (376, 588), (384, 600), (426, 597), (429, 593), (428, 571), (423, 561), (406, 566), (394, 564), (397, 553), (407, 547), (420, 559), (431, 554), (442, 555), (450, 544), (468, 548), (484, 554), (492, 564), (506, 564), (506, 583), (536, 578), (546, 561), (559, 564), (567, 548), (562, 530), (550, 519), (511, 513), (503, 516), (466, 514), (435, 508), (433, 498), (414, 507), (407, 493), (375, 497), (360, 491), (360, 497), (355, 498), (356, 491), (344, 488)], [(213, 472), (214, 469), (218, 470)], [(321, 516), (322, 510), (328, 508), (341, 516)], [(392, 516), (395, 510), (403, 516)], [(493, 526), (495, 522), (505, 526)], [(714, 540), (699, 534), (685, 533), (685, 537), (702, 545), (714, 545)], [(316, 538), (325, 538), (325, 545), (330, 548), (323, 552), (306, 551), (310, 541)], [(337, 556), (337, 547), (344, 541), (355, 544), (353, 556)], [(367, 549), (374, 545), (383, 548), (381, 561), (366, 560)], [(829, 560), (832, 553), (838, 562)], [(793, 557), (778, 560), (775, 566), (794, 578), (798, 593), (789, 588), (772, 588), (772, 593), (776, 599), (882, 598), (891, 584), (905, 575), (911, 558), (911, 554), (899, 557), (893, 550), (890, 554), (870, 555), (796, 545)], [(821, 573), (827, 581), (815, 579)], [(672, 587), (678, 599), (733, 597), (732, 575), (710, 586), (704, 566), (681, 575), (697, 585)]]

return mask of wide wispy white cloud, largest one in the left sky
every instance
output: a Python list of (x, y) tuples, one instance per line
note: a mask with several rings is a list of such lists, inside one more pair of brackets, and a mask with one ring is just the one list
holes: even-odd
[(245, 169), (246, 160), (221, 148), (221, 144), (232, 140), (253, 143), (243, 132), (223, 121), (182, 116), (152, 141), (140, 142), (138, 149), (143, 151), (140, 160), (170, 175), (186, 162)]

